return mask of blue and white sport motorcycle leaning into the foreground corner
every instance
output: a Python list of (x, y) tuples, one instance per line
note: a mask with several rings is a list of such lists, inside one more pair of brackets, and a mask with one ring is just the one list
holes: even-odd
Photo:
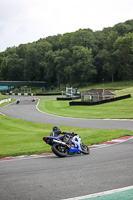
[(79, 135), (64, 135), (63, 141), (60, 137), (47, 136), (43, 138), (46, 144), (51, 146), (52, 152), (58, 157), (66, 157), (71, 154), (89, 154), (89, 148), (81, 142)]

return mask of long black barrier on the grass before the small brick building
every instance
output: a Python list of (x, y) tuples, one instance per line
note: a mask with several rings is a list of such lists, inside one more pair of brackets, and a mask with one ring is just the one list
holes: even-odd
[(96, 101), (96, 102), (72, 101), (72, 102), (69, 102), (69, 105), (70, 106), (93, 106), (93, 105), (109, 103), (109, 102), (118, 101), (118, 100), (127, 99), (127, 98), (131, 98), (131, 94), (120, 96), (120, 97), (115, 97), (115, 98), (112, 98), (112, 99), (105, 99), (105, 100), (101, 100), (101, 101)]

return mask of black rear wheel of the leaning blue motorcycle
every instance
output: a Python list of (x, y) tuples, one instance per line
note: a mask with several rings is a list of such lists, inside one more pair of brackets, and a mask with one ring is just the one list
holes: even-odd
[(68, 154), (68, 149), (65, 146), (60, 145), (60, 144), (53, 144), (52, 151), (58, 157), (66, 157)]

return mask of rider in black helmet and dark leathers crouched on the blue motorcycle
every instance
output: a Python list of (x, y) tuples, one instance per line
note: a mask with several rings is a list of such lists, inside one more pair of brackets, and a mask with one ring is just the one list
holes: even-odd
[(60, 128), (58, 126), (54, 126), (53, 127), (53, 131), (51, 131), (50, 136), (52, 137), (58, 137), (60, 134), (63, 134), (62, 136), (60, 136), (59, 138), (63, 141), (63, 142), (68, 142), (70, 137), (74, 137), (74, 132), (64, 132), (61, 131)]

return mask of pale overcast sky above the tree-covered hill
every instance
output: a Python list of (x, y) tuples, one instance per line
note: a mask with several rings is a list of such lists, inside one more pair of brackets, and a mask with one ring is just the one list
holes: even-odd
[(133, 0), (0, 0), (0, 52), (8, 47), (133, 19)]

